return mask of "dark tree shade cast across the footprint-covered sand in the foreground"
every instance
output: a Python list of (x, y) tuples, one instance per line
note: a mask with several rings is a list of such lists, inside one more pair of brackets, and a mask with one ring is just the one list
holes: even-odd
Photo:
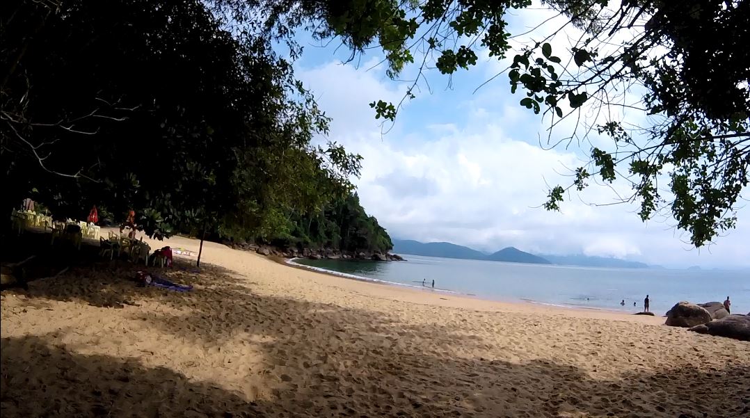
[[(4, 336), (3, 417), (750, 417), (746, 367), (704, 372), (664, 365), (663, 372), (595, 380), (564, 361), (518, 364), (431, 348), (437, 334), (463, 348), (481, 344), (458, 325), (406, 329), (397, 315), (269, 297), (210, 265), (196, 273), (180, 262), (163, 273), (195, 286), (191, 292), (138, 288), (129, 277), (139, 268), (81, 265), (14, 292), (29, 301), (83, 301), (102, 315), (124, 307), (133, 320), (196, 342), (222, 342), (240, 331), (267, 336), (261, 347), (268, 361), (299, 361), (295, 375), (281, 378), (271, 399), (250, 402), (171, 369), (146, 367), (136, 357), (80, 354), (54, 335)], [(190, 313), (127, 306), (153, 300)], [(233, 309), (215, 309), (217, 301)], [(311, 345), (326, 356), (309, 360)], [(37, 353), (33, 359), (31, 353)], [(37, 369), (29, 373), (32, 364)]]

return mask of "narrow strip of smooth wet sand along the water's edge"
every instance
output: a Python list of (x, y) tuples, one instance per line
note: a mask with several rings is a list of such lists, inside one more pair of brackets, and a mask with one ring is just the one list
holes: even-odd
[[(260, 255), (258, 255), (260, 257)], [(308, 266), (305, 264), (296, 263), (295, 260), (298, 258), (281, 258), (281, 257), (263, 257), (269, 258), (269, 260), (275, 263), (284, 265), (285, 267), (291, 267), (297, 270), (307, 271), (309, 273), (317, 273), (322, 276), (331, 277), (339, 280), (346, 280), (347, 282), (361, 283), (367, 285), (379, 285), (381, 288), (388, 288), (395, 291), (395, 293), (403, 293), (404, 298), (398, 300), (404, 300), (411, 303), (425, 304), (429, 306), (452, 306), (460, 307), (464, 309), (474, 309), (477, 311), (490, 311), (490, 312), (526, 312), (531, 311), (535, 313), (544, 313), (549, 315), (562, 315), (570, 316), (573, 318), (599, 318), (616, 321), (628, 321), (638, 322), (642, 324), (650, 325), (663, 325), (664, 318), (658, 315), (635, 315), (634, 313), (622, 312), (613, 309), (604, 308), (588, 308), (585, 306), (566, 306), (559, 305), (556, 303), (546, 303), (535, 300), (496, 300), (485, 297), (480, 297), (475, 294), (466, 294), (459, 291), (451, 291), (447, 289), (432, 289), (422, 288), (422, 286), (407, 285), (398, 282), (389, 282), (387, 280), (371, 279), (364, 276), (356, 276), (349, 273), (341, 273), (335, 270), (327, 270), (322, 267)], [(375, 262), (375, 261), (374, 261)], [(415, 299), (415, 295), (423, 295), (423, 300)], [(451, 297), (449, 299), (448, 297)], [(437, 297), (437, 300), (436, 300)], [(456, 303), (446, 303), (446, 301), (452, 300)]]

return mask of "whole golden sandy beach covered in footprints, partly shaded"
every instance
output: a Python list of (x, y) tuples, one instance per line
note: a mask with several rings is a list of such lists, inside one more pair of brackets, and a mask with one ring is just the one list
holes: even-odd
[(110, 261), (4, 291), (2, 416), (750, 417), (750, 344), (663, 318), (176, 260), (193, 291)]

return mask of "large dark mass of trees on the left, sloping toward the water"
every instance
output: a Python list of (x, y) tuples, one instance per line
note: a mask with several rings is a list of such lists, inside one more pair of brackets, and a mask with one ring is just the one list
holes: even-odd
[(199, 0), (6, 3), (7, 213), (32, 197), (59, 218), (133, 209), (157, 238), (390, 249), (353, 194), (361, 157), (316, 145), (329, 119), (269, 37)]

